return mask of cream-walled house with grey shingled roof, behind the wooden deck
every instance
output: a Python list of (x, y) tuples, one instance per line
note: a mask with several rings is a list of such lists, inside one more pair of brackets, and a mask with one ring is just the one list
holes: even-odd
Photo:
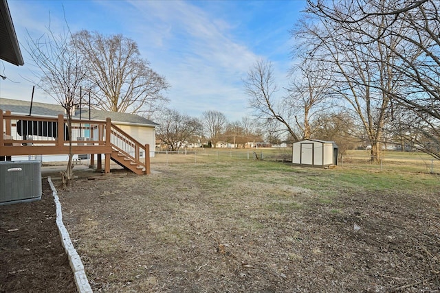
[[(32, 110), (30, 108), (29, 101), (22, 101), (18, 99), (5, 99), (0, 98), (0, 109), (10, 110), (13, 115), (32, 115), (41, 117), (58, 117), (59, 114), (65, 115), (65, 109), (58, 104), (45, 104), (40, 102), (32, 103)], [(155, 156), (155, 127), (159, 124), (140, 117), (138, 115), (107, 112), (103, 110), (95, 110), (89, 108), (75, 109), (72, 113), (72, 119), (84, 120), (87, 124), (87, 120), (105, 121), (110, 118), (111, 122), (118, 126), (124, 132), (129, 134), (133, 139), (139, 141), (142, 144), (151, 145), (150, 156)], [(81, 136), (84, 140), (87, 140), (89, 133), (83, 133)], [(78, 139), (75, 137), (74, 139)], [(19, 158), (17, 158), (19, 159)], [(45, 156), (42, 161), (65, 161), (66, 156)]]

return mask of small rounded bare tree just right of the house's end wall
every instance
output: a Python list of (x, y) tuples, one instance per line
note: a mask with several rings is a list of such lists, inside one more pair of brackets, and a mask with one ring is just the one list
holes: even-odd
[(199, 136), (202, 130), (198, 119), (172, 109), (164, 110), (158, 122), (156, 137), (172, 151), (179, 150), (193, 137)]

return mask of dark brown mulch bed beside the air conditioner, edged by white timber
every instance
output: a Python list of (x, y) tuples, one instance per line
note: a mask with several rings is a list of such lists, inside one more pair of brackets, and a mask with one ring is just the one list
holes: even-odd
[(0, 292), (76, 292), (55, 220), (47, 180), (40, 201), (0, 206)]

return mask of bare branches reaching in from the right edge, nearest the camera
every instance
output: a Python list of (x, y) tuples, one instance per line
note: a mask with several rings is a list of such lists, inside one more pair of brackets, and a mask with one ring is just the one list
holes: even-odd
[[(420, 123), (415, 126), (419, 129), (410, 132), (424, 133), (425, 138), (419, 141), (421, 150), (440, 159), (440, 152), (432, 148), (432, 145), (440, 145), (440, 3), (436, 0), (342, 1), (338, 9), (322, 0), (308, 3), (314, 14), (362, 36), (358, 40), (360, 45), (377, 43), (395, 56), (398, 62), (382, 62), (387, 62), (388, 67), (401, 75), (406, 86), (399, 93), (386, 88), (381, 90), (410, 110), (410, 117), (418, 117)], [(376, 31), (380, 27), (381, 34), (365, 30), (364, 23)], [(401, 38), (403, 42), (395, 46), (388, 42), (390, 36)], [(371, 56), (374, 60), (378, 57)]]

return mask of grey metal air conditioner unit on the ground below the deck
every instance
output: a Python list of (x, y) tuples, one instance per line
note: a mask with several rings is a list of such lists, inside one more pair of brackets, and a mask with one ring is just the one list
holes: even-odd
[(0, 204), (41, 199), (40, 161), (0, 162)]

